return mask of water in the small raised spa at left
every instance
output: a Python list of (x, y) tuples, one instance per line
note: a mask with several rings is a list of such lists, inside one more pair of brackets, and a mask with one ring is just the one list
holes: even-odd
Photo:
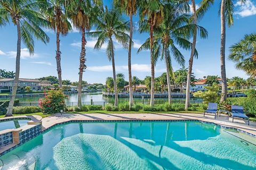
[(27, 125), (28, 121), (30, 121), (30, 120), (13, 119), (11, 121), (0, 122), (0, 131), (5, 130), (5, 129), (17, 129), (17, 128), (20, 128), (22, 126)]

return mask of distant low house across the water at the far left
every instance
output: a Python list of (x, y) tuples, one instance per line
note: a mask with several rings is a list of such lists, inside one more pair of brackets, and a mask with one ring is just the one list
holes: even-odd
[[(12, 91), (12, 87), (14, 85), (14, 79), (0, 79), (0, 90), (1, 89), (9, 89)], [(20, 78), (18, 81), (18, 89), (22, 90), (26, 86), (29, 86), (31, 90), (43, 90), (44, 87), (52, 87), (50, 83), (41, 83), (40, 80), (37, 79), (23, 79)]]

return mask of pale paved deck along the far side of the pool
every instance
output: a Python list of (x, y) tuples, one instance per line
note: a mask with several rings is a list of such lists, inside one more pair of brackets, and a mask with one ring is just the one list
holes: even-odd
[(256, 135), (256, 122), (250, 122), (250, 126), (247, 125), (247, 121), (241, 120), (238, 118), (234, 119), (232, 122), (231, 117), (221, 114), (214, 119), (213, 115), (205, 115), (203, 113), (138, 113), (138, 114), (106, 114), (106, 113), (93, 113), (93, 114), (54, 114), (49, 117), (42, 119), (42, 129), (46, 130), (51, 126), (59, 123), (65, 123), (68, 121), (92, 121), (92, 120), (101, 120), (101, 121), (119, 121), (119, 120), (198, 120), (215, 123), (221, 126), (226, 126), (228, 128), (236, 128), (238, 130), (251, 133)]

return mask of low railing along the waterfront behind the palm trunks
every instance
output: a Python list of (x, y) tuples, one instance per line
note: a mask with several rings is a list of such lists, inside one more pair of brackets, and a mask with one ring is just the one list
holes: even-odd
[[(155, 104), (164, 104), (166, 103), (167, 100), (155, 100)], [(118, 103), (127, 103), (127, 101), (118, 101)], [(145, 104), (149, 105), (150, 101), (149, 100), (140, 100), (140, 101), (135, 101), (134, 104)], [(173, 100), (172, 103), (182, 103), (185, 104), (185, 100)], [(190, 104), (195, 104), (195, 103), (202, 103), (202, 100), (191, 100)], [(108, 104), (114, 104), (114, 101), (83, 101), (82, 105), (102, 105), (106, 106)], [(39, 102), (20, 102), (19, 106), (38, 106)], [(66, 102), (67, 106), (77, 106), (77, 102), (75, 101), (67, 101)]]

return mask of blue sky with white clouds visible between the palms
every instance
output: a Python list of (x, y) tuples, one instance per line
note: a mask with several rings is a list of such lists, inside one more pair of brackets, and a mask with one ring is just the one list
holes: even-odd
[[(104, 1), (105, 5), (111, 6), (109, 1)], [(197, 7), (200, 1), (196, 1)], [(206, 12), (204, 18), (199, 21), (199, 25), (208, 31), (207, 39), (197, 38), (196, 49), (198, 59), (194, 60), (193, 72), (196, 78), (203, 78), (207, 75), (220, 76), (220, 17), (218, 15), (220, 1)], [(128, 20), (126, 16), (124, 19)], [(149, 37), (148, 33), (139, 33), (138, 16), (134, 16), (134, 46), (132, 48), (132, 75), (144, 79), (150, 75), (150, 54), (149, 51), (137, 54), (138, 48)], [(245, 4), (235, 4), (234, 25), (226, 29), (226, 73), (228, 78), (239, 76), (247, 78), (243, 71), (235, 69), (235, 63), (229, 61), (229, 47), (245, 34), (255, 33), (256, 29), (256, 0), (247, 0)], [(45, 30), (50, 37), (50, 43), (43, 44), (35, 40), (35, 54), (29, 55), (25, 45), (21, 45), (20, 78), (40, 78), (49, 75), (57, 76), (55, 49), (56, 36), (54, 31)], [(87, 39), (86, 45), (86, 65), (87, 69), (83, 74), (83, 80), (89, 83), (105, 83), (106, 77), (112, 77), (112, 66), (106, 55), (106, 45), (102, 49), (95, 50), (96, 40)], [(17, 29), (11, 22), (0, 28), (0, 69), (15, 71), (15, 55), (17, 48)], [(182, 50), (188, 67), (190, 51)], [(79, 55), (81, 52), (81, 33), (73, 29), (67, 36), (60, 37), (62, 80), (78, 81)], [(123, 49), (115, 41), (115, 63), (116, 72), (123, 73), (128, 78), (127, 70), (127, 50)], [(174, 70), (181, 66), (172, 60)], [(159, 60), (156, 64), (155, 76), (158, 77), (166, 72), (164, 61)]]

